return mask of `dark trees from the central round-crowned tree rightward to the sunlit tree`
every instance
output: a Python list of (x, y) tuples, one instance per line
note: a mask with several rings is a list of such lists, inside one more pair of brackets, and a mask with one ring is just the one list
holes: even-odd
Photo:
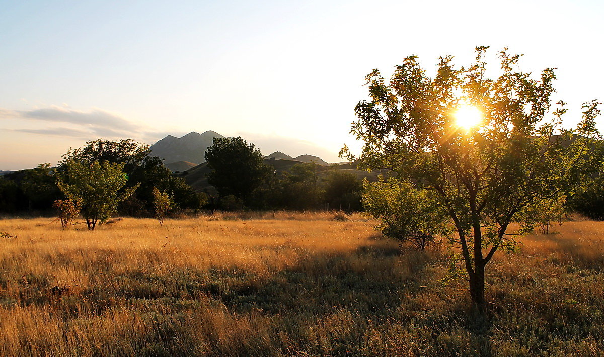
[(362, 182), (355, 175), (335, 168), (320, 175), (315, 163), (277, 172), (241, 137), (214, 138), (205, 159), (208, 182), (219, 192), (216, 207), (362, 210)]

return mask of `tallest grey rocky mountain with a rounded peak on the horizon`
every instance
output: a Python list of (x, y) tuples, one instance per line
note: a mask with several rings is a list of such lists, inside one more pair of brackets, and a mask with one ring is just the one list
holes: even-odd
[(211, 130), (203, 134), (191, 131), (182, 137), (168, 135), (151, 145), (151, 155), (161, 157), (164, 162), (186, 161), (199, 164), (205, 162), (205, 151), (212, 145), (214, 137), (224, 136)]

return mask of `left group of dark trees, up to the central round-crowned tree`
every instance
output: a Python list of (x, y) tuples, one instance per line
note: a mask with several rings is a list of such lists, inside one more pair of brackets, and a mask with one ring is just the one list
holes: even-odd
[[(207, 201), (184, 179), (172, 175), (161, 159), (150, 156), (148, 145), (132, 139), (98, 139), (69, 150), (55, 168), (44, 163), (1, 177), (0, 210), (49, 210), (57, 200), (95, 196), (112, 206), (107, 209), (110, 212), (149, 216), (154, 210), (153, 188), (170, 192), (181, 209), (199, 209)], [(110, 191), (118, 192), (118, 196), (101, 199)]]

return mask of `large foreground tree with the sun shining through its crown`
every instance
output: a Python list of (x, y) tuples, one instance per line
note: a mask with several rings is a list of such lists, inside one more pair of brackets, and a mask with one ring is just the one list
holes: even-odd
[(487, 263), (522, 233), (513, 221), (529, 204), (571, 191), (594, 167), (585, 136), (599, 136), (597, 101), (584, 105), (576, 131), (562, 130), (565, 103), (550, 105), (553, 69), (535, 78), (506, 49), (499, 52), (499, 77), (489, 78), (486, 49), (478, 47), (467, 68), (440, 58), (434, 77), (416, 56), (396, 66), (390, 81), (374, 70), (367, 76), (370, 99), (356, 106), (352, 127), (365, 143), (366, 168), (391, 169), (445, 207), (479, 311)]

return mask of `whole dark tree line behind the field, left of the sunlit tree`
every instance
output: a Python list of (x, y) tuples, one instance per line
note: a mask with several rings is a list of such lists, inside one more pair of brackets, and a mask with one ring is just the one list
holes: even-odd
[(196, 192), (183, 177), (165, 168), (162, 159), (150, 156), (148, 145), (132, 139), (89, 141), (69, 150), (55, 168), (45, 163), (0, 177), (0, 212), (54, 207), (65, 224), (77, 212), (94, 229), (97, 222), (115, 214), (163, 217), (200, 209), (362, 209), (362, 183), (355, 175), (335, 169), (320, 175), (319, 166), (312, 163), (277, 173), (264, 163), (254, 144), (240, 137), (215, 139), (206, 157), (211, 168), (208, 181), (218, 195)]

